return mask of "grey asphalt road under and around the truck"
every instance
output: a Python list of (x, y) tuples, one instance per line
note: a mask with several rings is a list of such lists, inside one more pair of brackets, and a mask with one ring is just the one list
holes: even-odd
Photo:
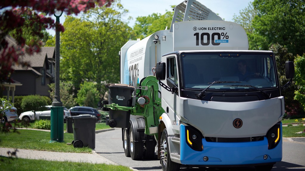
[[(106, 131), (95, 134), (96, 152), (119, 165), (132, 167), (137, 170), (162, 171), (160, 161), (154, 160), (131, 160), (125, 157), (122, 146), (121, 128), (113, 131)], [(181, 171), (254, 171), (254, 167), (239, 168), (186, 168), (181, 166)], [(284, 139), (283, 142), (283, 159), (277, 162), (273, 171), (304, 171), (305, 170), (305, 142), (291, 141)]]

